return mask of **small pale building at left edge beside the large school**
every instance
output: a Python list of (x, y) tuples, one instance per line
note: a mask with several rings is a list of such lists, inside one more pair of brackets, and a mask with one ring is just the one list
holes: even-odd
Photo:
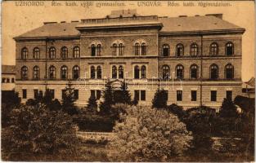
[(2, 92), (15, 90), (15, 79), (15, 65), (2, 65)]

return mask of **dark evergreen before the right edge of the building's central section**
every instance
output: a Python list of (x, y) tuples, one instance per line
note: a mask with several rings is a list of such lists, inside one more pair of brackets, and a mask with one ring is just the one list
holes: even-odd
[(166, 108), (167, 106), (167, 93), (165, 90), (157, 89), (152, 99), (152, 108)]

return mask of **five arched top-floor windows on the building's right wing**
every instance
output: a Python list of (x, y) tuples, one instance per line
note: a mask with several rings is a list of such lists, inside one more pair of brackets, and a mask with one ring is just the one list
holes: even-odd
[[(232, 42), (227, 42), (225, 47), (226, 47), (225, 48), (225, 53), (226, 53), (227, 56), (231, 56), (231, 55), (234, 54), (234, 44)], [(191, 43), (190, 55), (191, 56), (197, 56), (197, 55), (199, 55), (198, 51), (199, 51), (199, 46), (195, 42)], [(163, 56), (169, 56), (170, 55), (170, 46), (168, 44), (163, 45), (162, 55)], [(175, 55), (177, 57), (184, 55), (184, 46), (181, 43), (177, 44)], [(209, 46), (209, 55), (218, 56), (218, 43), (217, 42), (213, 42)]]

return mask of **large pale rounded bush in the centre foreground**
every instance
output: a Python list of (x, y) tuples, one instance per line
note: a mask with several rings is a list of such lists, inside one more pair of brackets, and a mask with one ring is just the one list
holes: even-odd
[(164, 110), (128, 108), (110, 140), (110, 161), (167, 161), (180, 156), (192, 139), (185, 124)]

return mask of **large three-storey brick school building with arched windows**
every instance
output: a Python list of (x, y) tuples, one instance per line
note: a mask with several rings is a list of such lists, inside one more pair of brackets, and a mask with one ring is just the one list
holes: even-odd
[(218, 108), (223, 98), (241, 94), (244, 32), (222, 14), (159, 17), (128, 10), (45, 22), (14, 38), (16, 91), (23, 102), (46, 89), (61, 99), (71, 80), (77, 104), (85, 105), (90, 95), (101, 98), (110, 78), (125, 80), (139, 104), (151, 104), (160, 88), (168, 104)]

